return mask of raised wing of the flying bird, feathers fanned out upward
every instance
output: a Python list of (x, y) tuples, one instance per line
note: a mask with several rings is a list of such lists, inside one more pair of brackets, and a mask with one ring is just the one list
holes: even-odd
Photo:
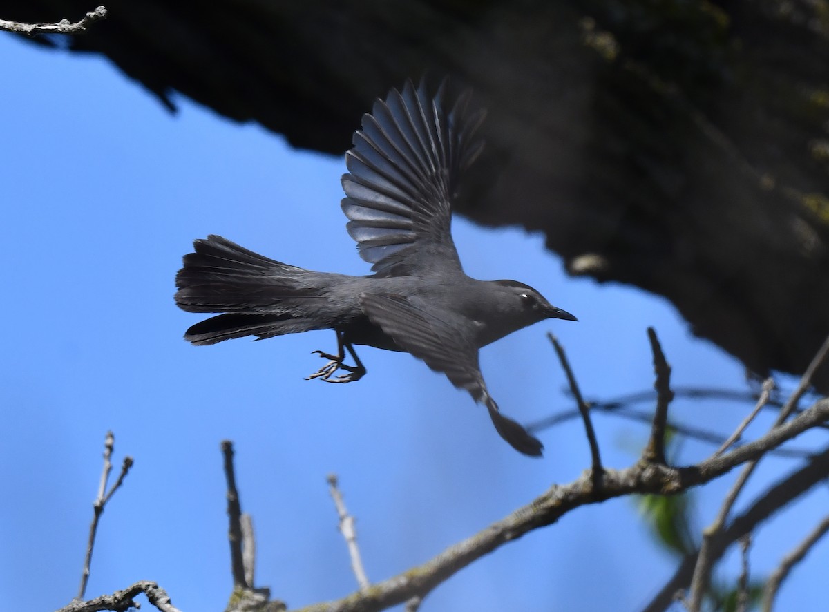
[(423, 83), (391, 90), (363, 115), (346, 153), (342, 210), (361, 257), (382, 276), (402, 276), (429, 258), (460, 269), (450, 231), (460, 174), (482, 148), (473, 138), (483, 112), (468, 112), (469, 92), (448, 104)]

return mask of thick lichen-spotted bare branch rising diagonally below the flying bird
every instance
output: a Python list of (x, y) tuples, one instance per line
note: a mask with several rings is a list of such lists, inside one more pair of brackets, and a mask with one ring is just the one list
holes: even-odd
[[(534, 529), (558, 521), (560, 517), (575, 508), (604, 502), (609, 498), (617, 498), (630, 493), (681, 493), (691, 487), (707, 483), (739, 464), (759, 457), (768, 449), (822, 424), (827, 418), (829, 418), (829, 400), (822, 400), (785, 425), (768, 432), (759, 440), (744, 444), (718, 457), (705, 459), (701, 464), (672, 468), (662, 464), (640, 462), (628, 469), (603, 470), (599, 474), (601, 481), (599, 486), (591, 486), (594, 480), (592, 474), (584, 474), (569, 484), (554, 485), (541, 497), (519, 508), (516, 512), (512, 512), (501, 521), (493, 523), (473, 537), (450, 546), (422, 566), (414, 567), (399, 576), (376, 583), (365, 593), (356, 592), (342, 600), (308, 606), (308, 608), (303, 608), (303, 612), (383, 610), (393, 605), (403, 604), (415, 596), (423, 597), (481, 556)], [(829, 449), (824, 454), (818, 455), (813, 460), (813, 464), (817, 464), (819, 469), (823, 470), (822, 478), (825, 478), (825, 470), (829, 465)], [(726, 535), (731, 534), (727, 531)]]

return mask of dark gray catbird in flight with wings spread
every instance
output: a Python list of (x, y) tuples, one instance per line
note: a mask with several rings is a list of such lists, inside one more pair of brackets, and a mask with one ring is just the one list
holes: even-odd
[[(430, 99), (407, 82), (376, 100), (346, 153), (342, 210), (371, 276), (313, 272), (270, 260), (221, 236), (194, 242), (176, 276), (176, 303), (191, 313), (225, 313), (196, 323), (184, 338), (214, 344), (311, 329), (333, 329), (337, 354), (309, 378), (356, 381), (366, 373), (353, 345), (410, 352), (487, 406), (498, 434), (540, 456), (539, 440), (498, 411), (478, 367), (478, 349), (545, 318), (576, 318), (515, 280), (463, 273), (452, 241), (452, 202), (461, 173), (482, 148), (483, 112), (468, 92), (449, 104), (447, 87)], [(347, 350), (353, 366), (343, 363)], [(342, 370), (341, 376), (333, 376)]]

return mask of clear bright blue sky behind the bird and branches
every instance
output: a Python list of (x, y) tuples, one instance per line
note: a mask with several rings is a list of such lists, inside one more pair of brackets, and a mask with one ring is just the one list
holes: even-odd
[[(303, 376), (322, 365), (313, 350), (335, 347), (332, 332), (188, 345), (182, 334), (200, 318), (176, 308), (172, 294), (195, 238), (217, 233), (289, 264), (368, 273), (339, 209), (342, 157), (293, 150), (182, 98), (181, 112), (169, 114), (99, 57), (0, 33), (0, 58), (7, 610), (54, 610), (75, 595), (107, 430), (118, 464), (130, 454), (135, 465), (102, 517), (87, 596), (156, 580), (181, 610), (216, 610), (230, 595), (221, 440), (235, 443), (242, 507), (254, 517), (257, 585), (291, 607), (356, 588), (329, 473), (356, 516), (369, 578), (383, 580), (588, 467), (579, 423), (542, 431), (545, 459), (527, 459), (468, 394), (406, 354), (362, 347), (368, 374), (328, 385)], [(572, 407), (547, 331), (564, 343), (589, 398), (650, 388), (648, 325), (676, 385), (744, 388), (739, 363), (692, 338), (665, 300), (567, 278), (540, 235), (456, 218), (454, 236), (468, 274), (519, 279), (579, 317), (482, 351), (507, 415), (529, 423)], [(673, 414), (728, 432), (745, 410), (677, 401)], [(647, 428), (600, 415), (595, 425), (605, 463), (633, 463)], [(681, 456), (710, 450), (688, 443)], [(770, 460), (760, 472), (793, 467)], [(728, 486), (712, 483), (698, 505)], [(759, 490), (749, 487), (746, 499)], [(760, 532), (753, 571), (768, 572), (825, 508), (817, 492)], [(701, 516), (710, 522), (713, 508)], [(816, 572), (827, 564), (824, 543), (784, 586), (781, 608), (825, 597)], [(727, 562), (724, 576), (735, 567)], [(673, 569), (633, 501), (615, 500), (503, 546), (422, 610), (634, 610)]]

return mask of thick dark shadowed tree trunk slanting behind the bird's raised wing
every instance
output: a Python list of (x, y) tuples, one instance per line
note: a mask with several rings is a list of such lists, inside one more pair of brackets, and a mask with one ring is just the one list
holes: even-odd
[[(300, 148), (343, 153), (374, 98), (450, 75), (488, 109), (461, 214), (543, 231), (572, 274), (666, 297), (760, 374), (803, 372), (829, 333), (827, 0), (106, 7), (70, 49)], [(829, 368), (815, 381), (829, 391)]]

